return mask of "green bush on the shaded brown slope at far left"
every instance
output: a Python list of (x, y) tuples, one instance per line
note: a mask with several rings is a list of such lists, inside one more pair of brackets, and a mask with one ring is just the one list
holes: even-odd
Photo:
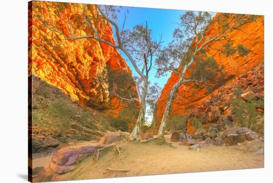
[(74, 111), (66, 107), (60, 100), (51, 103), (46, 112), (51, 117), (51, 124), (49, 127), (57, 128), (59, 135), (62, 135), (71, 125), (71, 117)]

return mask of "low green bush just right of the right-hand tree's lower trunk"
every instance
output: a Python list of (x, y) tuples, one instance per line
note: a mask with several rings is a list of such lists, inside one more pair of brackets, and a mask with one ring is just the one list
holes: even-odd
[(188, 116), (174, 116), (167, 121), (166, 130), (174, 128), (176, 130), (184, 130), (187, 127)]

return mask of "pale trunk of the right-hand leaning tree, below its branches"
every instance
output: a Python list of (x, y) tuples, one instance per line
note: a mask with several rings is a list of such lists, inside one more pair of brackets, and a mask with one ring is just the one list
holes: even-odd
[(171, 110), (171, 106), (172, 106), (173, 99), (174, 99), (174, 94), (176, 93), (179, 86), (183, 83), (183, 80), (184, 80), (184, 76), (183, 77), (181, 76), (180, 79), (178, 80), (178, 82), (176, 82), (176, 84), (173, 86), (173, 88), (170, 92), (169, 100), (167, 102), (167, 105), (166, 105), (164, 113), (163, 113), (163, 117), (161, 119), (159, 131), (158, 131), (158, 136), (164, 135), (166, 121), (167, 121), (167, 117), (168, 117), (170, 110)]

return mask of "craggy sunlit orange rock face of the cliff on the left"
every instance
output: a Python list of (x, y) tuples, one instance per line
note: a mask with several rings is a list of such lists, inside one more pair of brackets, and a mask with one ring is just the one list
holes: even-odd
[[(96, 109), (107, 109), (118, 116), (124, 104), (109, 93), (107, 66), (121, 72), (131, 73), (131, 70), (117, 49), (92, 39), (65, 40), (51, 30), (60, 30), (67, 37), (92, 34), (92, 29), (84, 23), (83, 6), (80, 3), (30, 2), (29, 76), (34, 74), (74, 100)], [(114, 43), (110, 24), (97, 15), (94, 5), (86, 8), (90, 22), (98, 17), (100, 37)]]

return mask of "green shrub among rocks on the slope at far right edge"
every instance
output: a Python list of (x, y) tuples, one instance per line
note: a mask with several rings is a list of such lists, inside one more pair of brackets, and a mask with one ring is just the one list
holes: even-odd
[(247, 101), (244, 101), (241, 97), (243, 90), (240, 86), (237, 86), (233, 94), (236, 98), (231, 99), (230, 103), (232, 104), (232, 110), (236, 117), (238, 118), (238, 123), (242, 127), (252, 128), (258, 120), (257, 107), (264, 105), (264, 100), (251, 98)]

